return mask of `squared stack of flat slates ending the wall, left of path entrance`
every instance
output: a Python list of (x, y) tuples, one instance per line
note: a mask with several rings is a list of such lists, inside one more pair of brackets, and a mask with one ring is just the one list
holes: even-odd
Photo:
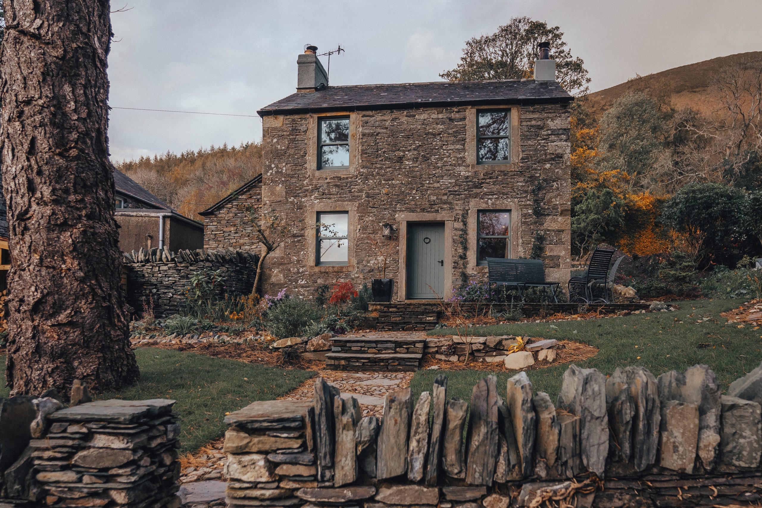
[(37, 506), (179, 506), (173, 404), (98, 400), (47, 415), (46, 432), (29, 442)]

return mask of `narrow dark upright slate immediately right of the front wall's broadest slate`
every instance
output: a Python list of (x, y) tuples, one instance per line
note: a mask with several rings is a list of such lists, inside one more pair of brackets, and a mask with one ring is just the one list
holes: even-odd
[(615, 462), (628, 462), (632, 452), (632, 419), (635, 402), (629, 386), (611, 378), (606, 380), (606, 406), (609, 415), (609, 456)]

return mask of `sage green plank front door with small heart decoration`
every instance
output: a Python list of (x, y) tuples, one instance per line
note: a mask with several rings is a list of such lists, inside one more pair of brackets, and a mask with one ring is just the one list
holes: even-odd
[(408, 223), (408, 298), (443, 298), (444, 223)]

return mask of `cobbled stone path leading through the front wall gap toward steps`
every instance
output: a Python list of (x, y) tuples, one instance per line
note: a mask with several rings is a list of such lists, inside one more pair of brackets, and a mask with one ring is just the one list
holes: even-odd
[[(357, 399), (357, 402), (360, 403), (360, 410), (362, 410), (363, 416), (375, 415), (379, 417), (383, 414), (383, 401), (386, 394), (409, 387), (410, 380), (413, 378), (412, 372), (347, 372), (325, 370), (318, 371), (318, 375), (325, 378), (328, 383), (338, 387), (342, 397), (354, 397)], [(288, 394), (278, 398), (283, 400), (312, 400), (314, 385), (315, 378), (308, 379)], [(194, 454), (194, 458), (197, 459), (195, 460), (196, 463), (201, 461), (203, 466), (185, 468), (180, 477), (181, 484), (225, 480), (223, 468), (226, 463), (226, 455), (223, 453), (222, 439), (205, 446), (200, 452)], [(213, 484), (209, 485), (213, 486)], [(207, 491), (206, 488), (198, 488), (203, 492)], [(211, 488), (213, 490), (214, 487)], [(187, 506), (193, 506), (194, 490), (190, 487), (186, 490), (189, 496)], [(206, 501), (203, 503), (209, 506)]]

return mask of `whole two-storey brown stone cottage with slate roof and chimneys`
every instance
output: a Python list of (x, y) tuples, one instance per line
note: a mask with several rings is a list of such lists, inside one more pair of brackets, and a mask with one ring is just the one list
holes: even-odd
[(450, 297), (487, 257), (540, 256), (565, 285), (572, 97), (547, 51), (534, 79), (329, 86), (316, 49), (258, 111), (262, 174), (201, 213), (205, 246), (258, 250), (253, 207), (307, 225), (267, 258), (266, 293), (386, 275), (394, 301)]

